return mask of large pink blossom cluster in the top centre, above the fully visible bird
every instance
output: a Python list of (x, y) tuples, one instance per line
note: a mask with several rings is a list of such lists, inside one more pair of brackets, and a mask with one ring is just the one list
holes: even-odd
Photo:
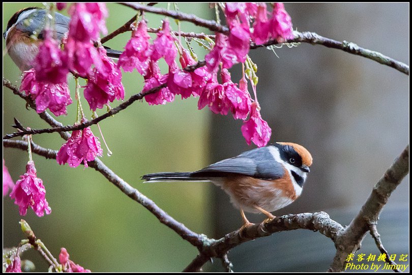
[[(143, 92), (167, 84), (157, 93), (145, 96), (150, 105), (171, 102), (176, 95), (182, 99), (199, 97), (199, 109), (208, 106), (214, 113), (226, 115), (231, 112), (235, 119), (244, 120), (242, 133), (247, 143), (264, 146), (269, 142), (272, 131), (261, 118), (256, 93), (252, 100), (246, 78), (240, 80), (238, 87), (232, 82), (227, 69), (234, 64), (245, 63), (251, 41), (264, 44), (271, 39), (278, 42), (292, 39), (291, 19), (281, 3), (274, 4), (271, 14), (264, 3), (226, 3), (224, 14), (230, 33), (216, 33), (214, 46), (205, 55), (204, 68), (197, 68), (193, 72), (184, 70), (196, 64), (196, 56), (173, 37), (167, 19), (163, 21), (161, 31), (153, 43), (146, 22), (135, 22), (132, 37), (117, 65), (126, 72), (136, 69), (144, 77)], [(181, 68), (175, 62), (178, 53)], [(169, 66), (167, 74), (159, 70), (157, 61), (162, 57)], [(218, 75), (221, 82), (218, 81)], [(251, 85), (255, 89), (253, 81)]]

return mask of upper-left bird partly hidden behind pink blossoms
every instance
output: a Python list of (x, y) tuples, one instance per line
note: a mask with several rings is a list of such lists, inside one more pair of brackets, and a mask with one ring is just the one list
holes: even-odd
[[(21, 71), (33, 68), (33, 60), (39, 53), (39, 46), (44, 40), (47, 11), (29, 7), (17, 11), (8, 21), (3, 33), (6, 50)], [(56, 12), (54, 16), (53, 39), (61, 42), (69, 31), (70, 17)], [(119, 58), (122, 51), (104, 46), (107, 56)]]

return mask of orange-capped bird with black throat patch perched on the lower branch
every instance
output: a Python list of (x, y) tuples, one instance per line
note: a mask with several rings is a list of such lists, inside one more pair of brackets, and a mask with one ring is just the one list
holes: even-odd
[[(272, 211), (295, 201), (302, 193), (312, 156), (296, 143), (277, 142), (243, 152), (194, 172), (161, 172), (143, 175), (146, 182), (212, 181), (240, 209), (243, 227), (251, 223), (244, 211), (263, 213), (269, 221)], [(242, 228), (243, 228), (242, 227)]]

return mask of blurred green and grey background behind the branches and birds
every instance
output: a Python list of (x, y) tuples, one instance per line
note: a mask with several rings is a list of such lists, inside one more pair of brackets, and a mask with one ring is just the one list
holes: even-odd
[[(33, 4), (4, 3), (3, 29), (12, 14), (28, 6)], [(178, 6), (183, 12), (214, 19), (205, 3)], [(134, 14), (120, 5), (107, 7), (109, 32)], [(286, 3), (285, 7), (300, 31), (353, 41), (408, 63), (409, 4)], [(146, 19), (150, 27), (158, 27), (162, 17), (146, 14)], [(210, 33), (185, 22), (182, 30)], [(129, 37), (130, 33), (122, 34), (107, 45), (122, 49)], [(192, 45), (203, 59), (204, 51)], [(348, 224), (408, 142), (408, 77), (371, 60), (322, 46), (301, 44), (277, 49), (276, 53), (280, 58), (263, 48), (251, 52), (258, 65), (262, 116), (273, 129), (272, 141), (304, 145), (314, 164), (301, 198), (275, 215), (324, 210), (332, 219)], [(163, 72), (165, 69), (163, 66)], [(231, 72), (236, 82), (239, 65)], [(19, 85), (20, 72), (7, 54), (3, 75)], [(74, 81), (70, 81), (73, 86)], [(123, 83), (127, 99), (140, 91), (143, 79), (137, 72), (125, 73)], [(7, 88), (3, 89), (3, 100), (4, 133), (14, 131), (10, 127), (13, 117), (24, 126), (47, 127)], [(65, 125), (75, 119), (74, 104), (68, 113), (58, 117)], [(250, 149), (240, 131), (241, 121), (212, 114), (207, 108), (198, 111), (196, 99), (182, 101), (179, 97), (162, 106), (136, 102), (100, 125), (113, 151), (113, 156), (104, 156), (102, 161), (176, 220), (214, 238), (239, 228), (238, 210), (213, 185), (149, 185), (141, 184), (139, 177), (158, 171), (196, 170)], [(96, 127), (92, 131), (99, 136)], [(63, 143), (57, 134), (37, 135), (34, 141), (53, 149)], [(24, 172), (27, 155), (10, 148), (3, 152), (11, 176), (17, 180)], [(196, 255), (195, 248), (93, 169), (59, 166), (38, 156), (34, 159), (52, 213), (38, 218), (29, 210), (24, 219), (54, 255), (65, 247), (72, 260), (92, 271), (181, 271)], [(408, 178), (394, 192), (378, 223), (390, 253), (408, 251)], [(3, 246), (16, 246), (22, 239), (18, 207), (5, 197), (3, 209)], [(258, 215), (248, 217), (254, 222), (262, 220)], [(304, 230), (282, 232), (233, 249), (229, 259), (235, 271), (325, 271), (334, 255), (333, 243), (325, 240), (319, 233)], [(378, 253), (369, 237), (361, 251)], [(23, 258), (34, 260), (37, 271), (47, 268), (34, 252), (25, 253)], [(222, 270), (219, 261), (206, 269)]]

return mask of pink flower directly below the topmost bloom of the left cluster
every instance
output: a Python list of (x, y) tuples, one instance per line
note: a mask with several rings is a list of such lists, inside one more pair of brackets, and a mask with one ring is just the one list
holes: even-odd
[(86, 77), (90, 73), (92, 65), (101, 70), (102, 59), (99, 51), (90, 41), (81, 42), (68, 39), (65, 52), (67, 53), (68, 67), (80, 76)]

